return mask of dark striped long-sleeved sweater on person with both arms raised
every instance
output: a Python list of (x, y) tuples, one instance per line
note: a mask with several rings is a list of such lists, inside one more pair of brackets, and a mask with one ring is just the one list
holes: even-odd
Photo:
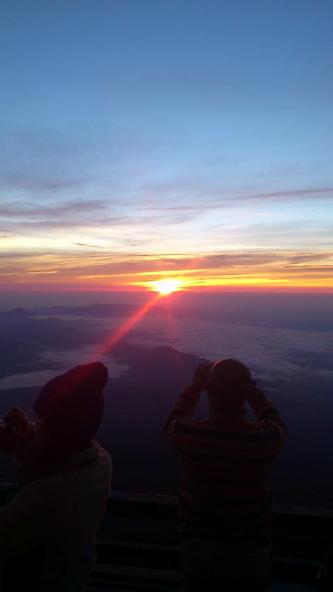
[(244, 412), (194, 418), (199, 394), (185, 387), (163, 433), (182, 462), (179, 514), (183, 532), (224, 539), (268, 539), (266, 477), (287, 437), (287, 426), (262, 391)]

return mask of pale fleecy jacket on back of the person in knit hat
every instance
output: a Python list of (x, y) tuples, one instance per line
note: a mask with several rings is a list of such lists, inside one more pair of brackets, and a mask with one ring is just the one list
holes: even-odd
[(31, 570), (33, 582), (26, 581), (25, 589), (83, 590), (94, 566), (95, 532), (105, 512), (110, 478), (110, 456), (93, 442), (90, 448), (71, 455), (62, 471), (22, 488), (4, 509), (10, 521), (3, 551), (4, 558), (9, 558), (4, 589), (17, 587), (22, 575), (13, 567), (20, 566), (28, 548), (33, 550), (38, 569)]

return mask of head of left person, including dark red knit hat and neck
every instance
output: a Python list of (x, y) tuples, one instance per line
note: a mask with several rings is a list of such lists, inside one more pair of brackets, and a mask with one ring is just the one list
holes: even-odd
[(60, 471), (69, 456), (89, 448), (103, 418), (108, 369), (101, 362), (76, 366), (46, 382), (33, 405), (37, 423), (14, 456), (30, 482)]

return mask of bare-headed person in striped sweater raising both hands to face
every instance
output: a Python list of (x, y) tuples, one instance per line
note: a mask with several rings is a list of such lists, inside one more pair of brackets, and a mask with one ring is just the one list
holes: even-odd
[[(194, 418), (207, 390), (209, 414)], [(249, 421), (244, 407), (252, 407)], [(238, 360), (200, 364), (163, 433), (182, 463), (183, 590), (266, 590), (271, 500), (266, 477), (287, 425)], [(229, 586), (229, 587), (228, 587)]]

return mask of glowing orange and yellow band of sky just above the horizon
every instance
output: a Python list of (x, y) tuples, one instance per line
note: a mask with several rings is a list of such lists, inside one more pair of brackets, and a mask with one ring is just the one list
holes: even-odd
[(164, 279), (179, 289), (209, 291), (332, 291), (333, 256), (327, 251), (232, 251), (171, 255), (12, 253), (0, 260), (2, 289), (154, 290)]

